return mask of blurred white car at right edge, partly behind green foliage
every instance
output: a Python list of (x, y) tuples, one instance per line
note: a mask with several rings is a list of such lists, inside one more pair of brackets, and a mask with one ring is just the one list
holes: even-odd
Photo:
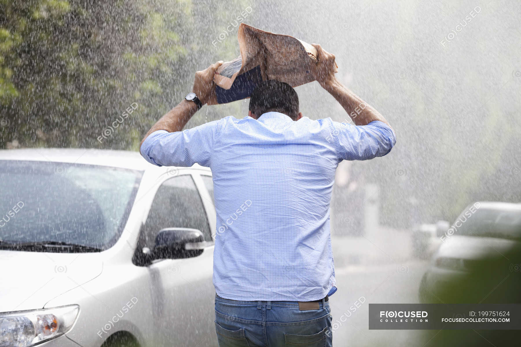
[(421, 279), (421, 302), (521, 302), (521, 204), (471, 204), (442, 240)]

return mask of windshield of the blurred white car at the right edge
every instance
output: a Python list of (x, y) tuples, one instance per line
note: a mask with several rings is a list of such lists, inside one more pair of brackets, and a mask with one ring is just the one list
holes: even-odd
[[(462, 222), (465, 219), (463, 214), (458, 218)], [(479, 209), (462, 223), (458, 228), (458, 234), (521, 241), (521, 212), (519, 210)]]

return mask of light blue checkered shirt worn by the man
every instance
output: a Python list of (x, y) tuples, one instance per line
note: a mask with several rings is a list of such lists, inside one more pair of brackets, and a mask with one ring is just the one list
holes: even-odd
[(395, 142), (379, 121), (354, 126), (267, 112), (159, 130), (141, 153), (155, 165), (212, 169), (220, 297), (313, 301), (337, 290), (329, 203), (338, 163), (384, 156)]

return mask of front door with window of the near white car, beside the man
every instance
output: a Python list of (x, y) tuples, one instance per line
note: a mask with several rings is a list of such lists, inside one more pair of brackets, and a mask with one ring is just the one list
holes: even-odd
[[(188, 259), (156, 260), (148, 266), (154, 326), (152, 345), (217, 345), (214, 325), (215, 289), (212, 283), (213, 238), (203, 197), (194, 172), (167, 178), (157, 189), (142, 233), (152, 249), (160, 229), (169, 227), (201, 230), (207, 247)], [(215, 222), (214, 222), (215, 224)], [(214, 227), (215, 228), (215, 227)]]

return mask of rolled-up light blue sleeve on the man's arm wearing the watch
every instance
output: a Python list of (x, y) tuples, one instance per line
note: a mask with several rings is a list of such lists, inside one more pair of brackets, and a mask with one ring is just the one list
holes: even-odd
[(210, 157), (222, 120), (169, 133), (158, 130), (148, 135), (140, 148), (143, 158), (157, 166), (210, 165)]

